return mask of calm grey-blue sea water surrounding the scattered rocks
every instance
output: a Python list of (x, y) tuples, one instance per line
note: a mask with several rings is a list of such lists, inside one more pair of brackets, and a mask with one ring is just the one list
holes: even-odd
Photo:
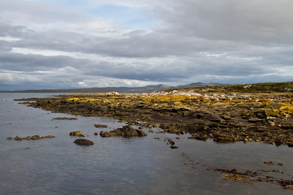
[[(262, 143), (218, 144), (189, 140), (188, 135), (151, 134), (143, 138), (94, 136), (107, 124), (122, 127), (112, 118), (78, 117), (52, 120), (65, 114), (26, 107), (14, 98), (56, 94), (0, 93), (0, 195), (285, 195), (293, 191), (278, 185), (236, 183), (219, 179), (221, 173), (205, 166), (185, 165), (186, 153), (195, 162), (229, 169), (277, 169), (293, 174), (293, 148)], [(69, 116), (70, 117), (70, 116)], [(105, 129), (103, 129), (105, 130)], [(83, 131), (93, 146), (78, 146), (71, 131)], [(6, 137), (53, 135), (42, 140), (6, 140)], [(88, 136), (88, 137), (87, 137)], [(160, 137), (160, 140), (154, 139)], [(179, 149), (171, 150), (164, 138), (172, 138)], [(25, 149), (29, 148), (29, 149)], [(283, 163), (269, 166), (264, 161)], [(192, 168), (194, 167), (194, 169)]]

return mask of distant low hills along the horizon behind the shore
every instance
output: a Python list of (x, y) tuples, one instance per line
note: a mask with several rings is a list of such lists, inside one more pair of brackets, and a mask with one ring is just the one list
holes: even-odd
[(178, 86), (170, 86), (170, 85), (147, 85), (144, 87), (95, 87), (95, 88), (87, 88), (87, 89), (57, 89), (57, 90), (25, 90), (25, 91), (4, 91), (0, 90), (0, 92), (14, 92), (14, 93), (106, 93), (110, 91), (116, 92), (153, 92), (153, 91), (163, 91), (168, 89), (184, 89), (188, 87), (205, 87), (205, 86), (219, 86), (223, 84), (219, 83), (204, 83), (204, 82), (195, 82), (187, 85), (178, 85)]

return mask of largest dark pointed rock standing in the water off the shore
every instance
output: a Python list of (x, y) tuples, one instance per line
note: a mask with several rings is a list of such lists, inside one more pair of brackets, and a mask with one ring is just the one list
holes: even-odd
[(130, 125), (123, 126), (122, 128), (115, 129), (114, 131), (100, 132), (101, 137), (118, 137), (118, 136), (124, 136), (124, 137), (143, 137), (147, 136), (147, 134), (139, 129), (134, 129)]

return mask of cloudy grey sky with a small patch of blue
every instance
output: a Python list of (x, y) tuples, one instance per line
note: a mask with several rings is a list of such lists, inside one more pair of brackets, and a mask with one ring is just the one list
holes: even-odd
[(0, 90), (293, 81), (293, 0), (0, 0)]

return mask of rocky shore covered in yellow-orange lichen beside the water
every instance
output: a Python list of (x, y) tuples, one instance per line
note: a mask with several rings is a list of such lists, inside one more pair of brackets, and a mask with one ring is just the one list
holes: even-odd
[(189, 133), (190, 139), (263, 141), (293, 147), (291, 90), (282, 93), (231, 93), (198, 88), (129, 95), (76, 94), (15, 100), (56, 113), (113, 117), (128, 125), (139, 126), (139, 129), (160, 127), (162, 131), (157, 133)]

